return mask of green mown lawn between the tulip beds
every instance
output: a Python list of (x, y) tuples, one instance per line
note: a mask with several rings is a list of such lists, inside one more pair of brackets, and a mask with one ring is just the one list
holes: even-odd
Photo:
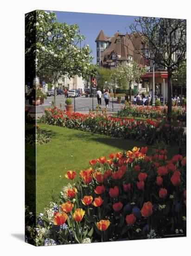
[[(145, 146), (140, 141), (124, 140), (105, 135), (91, 134), (69, 128), (40, 124), (40, 128), (51, 134), (51, 142), (37, 146), (37, 212), (42, 212), (52, 197), (58, 198), (63, 186), (69, 180), (64, 177), (68, 170), (89, 167), (89, 160), (112, 152)], [(151, 152), (152, 147), (148, 146)], [(30, 150), (30, 147), (28, 148)], [(170, 149), (170, 155), (178, 154), (178, 148)], [(32, 169), (26, 168), (30, 179)], [(77, 175), (78, 177), (78, 175)]]

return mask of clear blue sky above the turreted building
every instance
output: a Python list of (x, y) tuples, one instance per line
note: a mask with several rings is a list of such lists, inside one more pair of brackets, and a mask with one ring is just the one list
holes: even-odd
[[(106, 36), (114, 35), (118, 30), (127, 33), (126, 28), (134, 22), (135, 16), (96, 14), (96, 13), (73, 13), (55, 11), (58, 22), (77, 24), (81, 34), (86, 37), (85, 43), (89, 44), (93, 51), (93, 62), (96, 63), (96, 37), (102, 29)], [(129, 30), (128, 30), (129, 31)]]

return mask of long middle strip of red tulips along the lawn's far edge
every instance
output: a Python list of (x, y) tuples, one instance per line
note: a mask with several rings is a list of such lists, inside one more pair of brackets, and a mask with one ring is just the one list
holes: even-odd
[(53, 108), (45, 109), (45, 115), (41, 122), (104, 134), (125, 139), (144, 141), (152, 144), (153, 141), (162, 140), (166, 143), (178, 143), (184, 135), (184, 128), (180, 121), (136, 121), (127, 118), (112, 118), (109, 115), (83, 115), (69, 113), (64, 110)]

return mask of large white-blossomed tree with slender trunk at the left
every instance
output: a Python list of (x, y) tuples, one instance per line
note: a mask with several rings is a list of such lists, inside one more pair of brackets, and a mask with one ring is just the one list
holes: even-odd
[(25, 69), (30, 73), (26, 74), (26, 79), (46, 76), (56, 89), (62, 75), (71, 78), (91, 74), (95, 65), (89, 55), (89, 45), (83, 44), (84, 40), (76, 24), (57, 22), (53, 12), (37, 10), (28, 13), (25, 17)]

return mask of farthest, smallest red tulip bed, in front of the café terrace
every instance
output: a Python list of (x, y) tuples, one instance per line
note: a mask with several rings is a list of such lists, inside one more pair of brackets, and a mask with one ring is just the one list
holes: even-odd
[[(185, 115), (185, 110), (182, 108), (172, 108), (172, 117), (177, 118), (178, 115)], [(125, 105), (124, 108), (119, 112), (120, 117), (125, 116), (134, 116), (134, 117), (143, 117), (143, 118), (164, 118), (167, 117), (167, 107), (133, 107), (132, 105)]]

